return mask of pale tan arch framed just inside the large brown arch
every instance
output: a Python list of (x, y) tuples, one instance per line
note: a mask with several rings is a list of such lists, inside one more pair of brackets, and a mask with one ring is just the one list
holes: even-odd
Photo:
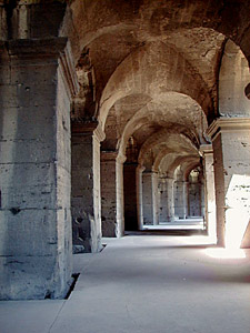
[[(179, 107), (174, 109), (177, 100), (179, 100)], [(166, 93), (161, 103), (153, 104), (149, 101), (146, 107), (134, 113), (126, 123), (118, 141), (117, 149), (122, 154), (126, 152), (128, 139), (146, 124), (151, 124), (158, 130), (171, 127), (171, 131), (183, 133), (197, 147), (207, 140), (203, 137), (208, 127), (203, 110), (191, 98), (180, 93)]]

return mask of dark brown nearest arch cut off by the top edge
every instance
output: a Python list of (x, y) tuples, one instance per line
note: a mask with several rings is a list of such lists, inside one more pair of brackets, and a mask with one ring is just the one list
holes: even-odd
[[(210, 28), (231, 38), (247, 59), (249, 47), (249, 0), (247, 1), (71, 1), (60, 34), (69, 36), (76, 59), (81, 50), (103, 33), (136, 32), (137, 42), (164, 37), (176, 29)], [(140, 28), (140, 29), (139, 29)]]

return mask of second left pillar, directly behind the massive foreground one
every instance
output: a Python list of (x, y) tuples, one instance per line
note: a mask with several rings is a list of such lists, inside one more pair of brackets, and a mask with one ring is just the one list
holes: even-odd
[(101, 245), (100, 142), (98, 122), (72, 124), (72, 194), (74, 252), (99, 252)]

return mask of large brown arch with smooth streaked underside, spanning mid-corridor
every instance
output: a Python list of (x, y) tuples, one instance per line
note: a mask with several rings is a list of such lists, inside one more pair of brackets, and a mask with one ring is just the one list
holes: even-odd
[(147, 93), (153, 99), (168, 92), (191, 97), (206, 114), (213, 110), (206, 82), (184, 57), (171, 46), (151, 42), (139, 48), (117, 68), (103, 90), (99, 120), (104, 127), (110, 108), (128, 94)]

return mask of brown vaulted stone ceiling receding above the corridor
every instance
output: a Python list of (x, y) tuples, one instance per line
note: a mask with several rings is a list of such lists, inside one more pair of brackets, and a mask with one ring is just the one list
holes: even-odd
[(72, 36), (80, 71), (88, 63), (81, 93), (93, 101), (80, 101), (79, 112), (84, 117), (98, 105), (92, 115), (106, 132), (102, 150), (123, 154), (133, 137), (140, 163), (166, 170), (183, 158), (199, 162), (199, 144), (218, 114), (226, 40), (246, 44), (247, 2), (72, 1), (73, 24), (62, 31)]

